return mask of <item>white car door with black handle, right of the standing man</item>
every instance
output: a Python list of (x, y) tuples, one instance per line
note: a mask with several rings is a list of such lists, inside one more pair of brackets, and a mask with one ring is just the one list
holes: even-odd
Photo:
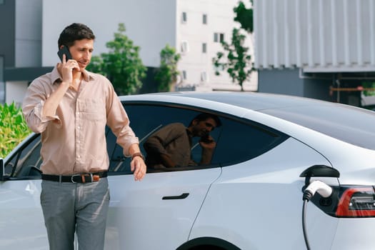
[[(189, 125), (199, 111), (158, 105), (126, 105), (131, 127), (140, 146), (152, 132), (171, 122)], [(144, 115), (142, 115), (144, 114)], [(213, 134), (217, 138), (217, 134)], [(189, 238), (209, 186), (221, 174), (219, 165), (181, 168), (146, 174), (134, 181), (130, 160), (108, 132), (111, 158), (111, 201), (106, 230), (106, 249), (176, 249)], [(199, 157), (199, 146), (193, 154)], [(182, 171), (185, 170), (185, 171)]]

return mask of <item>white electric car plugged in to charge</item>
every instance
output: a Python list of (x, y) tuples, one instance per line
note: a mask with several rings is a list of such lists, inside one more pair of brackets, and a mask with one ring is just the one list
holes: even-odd
[[(150, 169), (142, 181), (134, 181), (129, 159), (106, 131), (105, 249), (375, 248), (374, 111), (259, 93), (120, 99), (142, 150), (154, 131), (176, 121), (188, 126), (201, 112), (222, 125), (211, 133), (210, 166)], [(48, 249), (40, 146), (31, 134), (1, 164), (0, 249)], [(192, 149), (196, 161), (199, 147)]]

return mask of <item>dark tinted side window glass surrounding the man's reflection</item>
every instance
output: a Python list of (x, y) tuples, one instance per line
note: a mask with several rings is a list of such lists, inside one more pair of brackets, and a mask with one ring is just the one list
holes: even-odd
[[(144, 155), (146, 155), (144, 141), (154, 131), (175, 122), (188, 126), (192, 117), (209, 112), (188, 107), (142, 104), (127, 104), (125, 109), (131, 121), (131, 128), (139, 137), (140, 149)], [(222, 125), (211, 131), (211, 136), (216, 141), (216, 149), (210, 167), (227, 166), (252, 159), (264, 154), (286, 139), (284, 134), (261, 124), (249, 123), (249, 121), (234, 119), (231, 116), (216, 115), (219, 116)], [(131, 174), (130, 159), (123, 156), (122, 148), (116, 144), (116, 137), (111, 134), (111, 131), (108, 131), (107, 142), (110, 158), (109, 171), (115, 171), (118, 174)], [(193, 140), (191, 156), (196, 162), (201, 160), (201, 146), (199, 146), (198, 137)]]

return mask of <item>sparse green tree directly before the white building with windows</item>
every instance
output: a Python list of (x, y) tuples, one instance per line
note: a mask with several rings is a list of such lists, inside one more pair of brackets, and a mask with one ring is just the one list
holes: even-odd
[(233, 82), (241, 86), (244, 91), (244, 81), (249, 79), (251, 71), (253, 71), (251, 56), (247, 54), (249, 48), (245, 47), (244, 40), (246, 36), (241, 34), (239, 29), (233, 29), (231, 36), (231, 44), (221, 41), (221, 45), (226, 51), (226, 59), (224, 52), (217, 52), (216, 57), (212, 59), (215, 66), (215, 74), (219, 75), (219, 69), (226, 69)]

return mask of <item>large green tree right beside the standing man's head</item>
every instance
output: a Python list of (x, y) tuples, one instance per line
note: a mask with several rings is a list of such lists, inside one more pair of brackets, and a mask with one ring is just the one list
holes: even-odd
[(146, 76), (146, 66), (139, 58), (139, 46), (134, 45), (125, 31), (125, 25), (119, 24), (114, 40), (106, 43), (109, 53), (93, 56), (87, 68), (106, 76), (119, 95), (136, 93), (141, 89), (141, 79)]

